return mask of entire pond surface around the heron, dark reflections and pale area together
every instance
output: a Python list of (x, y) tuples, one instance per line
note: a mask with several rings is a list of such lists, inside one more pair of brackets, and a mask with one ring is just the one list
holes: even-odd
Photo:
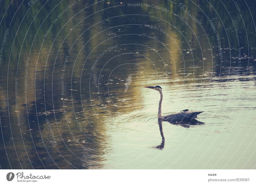
[(1, 168), (255, 169), (255, 5), (0, 1)]

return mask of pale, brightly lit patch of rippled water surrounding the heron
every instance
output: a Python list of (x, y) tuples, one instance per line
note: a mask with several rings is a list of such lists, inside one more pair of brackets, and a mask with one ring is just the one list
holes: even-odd
[(105, 167), (253, 168), (249, 161), (255, 137), (254, 83), (245, 78), (237, 80), (236, 76), (229, 78), (230, 82), (215, 78), (210, 83), (164, 86), (164, 112), (184, 108), (205, 112), (198, 116), (204, 125), (182, 127), (163, 122), (162, 150), (154, 148), (162, 142), (156, 117), (158, 92), (137, 87), (145, 97), (141, 98), (143, 109), (132, 103), (130, 106), (137, 108), (129, 114), (110, 119), (118, 126), (108, 129), (114, 155), (107, 155)]

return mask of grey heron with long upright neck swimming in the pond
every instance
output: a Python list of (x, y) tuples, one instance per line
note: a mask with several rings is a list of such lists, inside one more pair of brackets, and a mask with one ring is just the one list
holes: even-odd
[(192, 110), (182, 110), (180, 112), (172, 113), (169, 115), (164, 116), (162, 114), (162, 101), (163, 101), (163, 89), (161, 86), (156, 85), (156, 86), (146, 86), (145, 88), (148, 89), (155, 89), (160, 93), (160, 101), (159, 101), (159, 106), (158, 106), (158, 119), (161, 119), (163, 121), (168, 121), (168, 122), (175, 122), (175, 121), (194, 121), (194, 118), (197, 118), (197, 115), (204, 112), (204, 111), (192, 111)]

